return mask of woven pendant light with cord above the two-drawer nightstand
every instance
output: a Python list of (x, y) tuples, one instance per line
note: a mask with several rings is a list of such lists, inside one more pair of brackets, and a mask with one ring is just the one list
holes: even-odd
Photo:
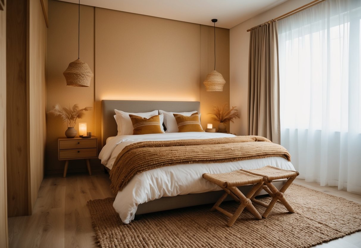
[(93, 77), (89, 65), (79, 59), (80, 50), (80, 0), (78, 7), (78, 59), (69, 63), (68, 68), (63, 72), (67, 86), (89, 87), (90, 80)]

